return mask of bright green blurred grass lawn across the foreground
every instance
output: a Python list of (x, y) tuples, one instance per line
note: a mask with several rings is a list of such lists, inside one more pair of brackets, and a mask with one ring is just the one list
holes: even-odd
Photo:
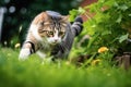
[(19, 50), (0, 49), (0, 87), (130, 87), (131, 70), (109, 65), (76, 67), (37, 55), (17, 60)]

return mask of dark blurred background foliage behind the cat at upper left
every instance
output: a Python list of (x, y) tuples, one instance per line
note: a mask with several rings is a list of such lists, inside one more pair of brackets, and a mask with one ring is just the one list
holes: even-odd
[(2, 46), (13, 47), (16, 42), (22, 42), (31, 21), (41, 11), (53, 10), (67, 15), (70, 10), (78, 8), (81, 1), (82, 0), (0, 0), (0, 7), (4, 8)]

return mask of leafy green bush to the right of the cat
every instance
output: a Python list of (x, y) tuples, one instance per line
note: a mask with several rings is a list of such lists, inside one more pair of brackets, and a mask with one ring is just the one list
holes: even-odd
[(127, 48), (127, 45), (129, 46), (127, 39), (131, 38), (130, 0), (98, 0), (91, 5), (70, 11), (71, 15), (78, 13), (84, 15), (87, 21), (84, 22), (83, 33), (76, 41), (81, 42), (80, 38), (86, 35), (91, 38), (83, 41), (87, 40), (84, 46), (81, 45), (81, 49), (78, 49), (78, 45), (74, 44), (73, 50), (79, 50), (76, 54), (95, 54), (98, 48), (104, 46), (109, 49), (110, 54), (116, 54), (119, 48), (123, 51), (131, 51)]

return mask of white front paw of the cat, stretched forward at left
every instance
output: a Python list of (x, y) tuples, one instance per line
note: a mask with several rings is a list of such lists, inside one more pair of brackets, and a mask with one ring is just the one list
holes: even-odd
[(28, 48), (24, 48), (20, 51), (19, 60), (26, 60), (31, 54), (31, 50)]

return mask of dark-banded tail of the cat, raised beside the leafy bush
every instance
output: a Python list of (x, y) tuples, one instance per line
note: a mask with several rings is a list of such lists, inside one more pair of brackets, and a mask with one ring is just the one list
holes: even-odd
[(82, 29), (83, 29), (83, 20), (81, 16), (78, 16), (73, 24), (72, 24), (72, 29), (75, 36), (78, 36), (79, 34), (81, 34)]

